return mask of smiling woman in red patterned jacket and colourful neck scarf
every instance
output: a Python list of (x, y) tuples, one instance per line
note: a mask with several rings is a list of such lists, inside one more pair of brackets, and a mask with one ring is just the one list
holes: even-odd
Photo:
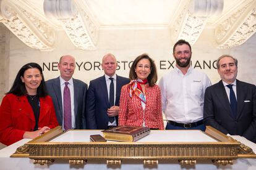
[(147, 54), (137, 57), (130, 67), (129, 84), (122, 86), (119, 105), (119, 126), (144, 126), (164, 129), (161, 92), (156, 65)]

